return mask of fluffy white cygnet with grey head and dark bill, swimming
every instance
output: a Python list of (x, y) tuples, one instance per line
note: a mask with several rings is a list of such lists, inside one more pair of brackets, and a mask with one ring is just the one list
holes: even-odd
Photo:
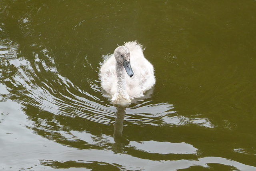
[[(156, 83), (154, 68), (136, 42), (119, 46), (100, 68), (101, 86), (114, 104), (126, 105)], [(126, 72), (125, 72), (126, 71)]]

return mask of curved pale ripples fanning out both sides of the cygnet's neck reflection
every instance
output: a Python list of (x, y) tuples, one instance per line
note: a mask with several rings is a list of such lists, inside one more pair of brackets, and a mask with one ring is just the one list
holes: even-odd
[[(46, 49), (42, 50), (46, 56), (44, 60), (35, 55), (35, 67), (24, 58), (8, 60), (10, 65), (18, 69), (13, 77), (16, 84), (22, 85), (27, 91), (26, 96), (30, 98), (29, 103), (33, 103), (39, 109), (54, 113), (56, 115), (66, 115), (70, 117), (82, 117), (90, 121), (109, 125), (114, 123), (116, 108), (104, 104), (99, 97), (80, 89), (68, 78), (58, 73), (53, 58), (48, 55)], [(50, 61), (46, 62), (46, 60)], [(36, 72), (33, 70), (36, 68)], [(42, 78), (40, 73), (47, 72), (48, 79)], [(39, 81), (39, 82), (38, 82)], [(96, 82), (99, 84), (99, 82)], [(97, 84), (90, 84), (92, 89), (100, 91)], [(56, 89), (58, 87), (58, 89)], [(80, 94), (80, 95), (78, 95)], [(86, 97), (82, 97), (82, 96)], [(178, 115), (174, 110), (174, 105), (168, 103), (151, 104), (152, 101), (142, 101), (132, 107), (126, 108), (125, 120), (138, 125), (188, 125), (195, 124), (204, 127), (214, 127), (209, 119), (202, 117), (185, 117)]]

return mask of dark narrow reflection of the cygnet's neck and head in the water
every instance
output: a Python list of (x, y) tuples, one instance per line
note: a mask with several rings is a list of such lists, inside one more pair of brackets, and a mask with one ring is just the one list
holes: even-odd
[(122, 153), (123, 147), (129, 144), (129, 141), (122, 136), (126, 107), (119, 105), (119, 106), (116, 106), (116, 109), (117, 109), (116, 119), (115, 119), (116, 122), (114, 126), (114, 135), (113, 135), (115, 143), (113, 144), (113, 148), (114, 148), (114, 151), (118, 153)]

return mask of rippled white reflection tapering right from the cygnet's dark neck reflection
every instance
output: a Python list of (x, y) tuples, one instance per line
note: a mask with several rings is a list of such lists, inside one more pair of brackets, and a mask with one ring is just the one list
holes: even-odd
[(203, 114), (185, 117), (179, 115), (174, 110), (174, 106), (168, 103), (152, 104), (151, 101), (145, 101), (142, 104), (127, 108), (126, 114), (132, 116), (127, 118), (128, 121), (133, 121), (139, 125), (184, 126), (194, 124), (209, 128), (215, 127)]

